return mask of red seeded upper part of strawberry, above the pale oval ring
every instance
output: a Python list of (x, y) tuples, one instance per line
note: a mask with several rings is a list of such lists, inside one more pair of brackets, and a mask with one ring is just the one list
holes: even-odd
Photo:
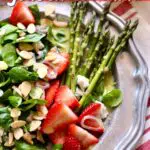
[(81, 122), (82, 118), (87, 115), (98, 116), (100, 114), (101, 104), (100, 103), (92, 103), (88, 107), (86, 107), (81, 115), (79, 116), (79, 122)]

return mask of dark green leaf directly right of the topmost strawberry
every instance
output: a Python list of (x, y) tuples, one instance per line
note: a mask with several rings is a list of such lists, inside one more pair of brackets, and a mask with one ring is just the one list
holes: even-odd
[(40, 10), (39, 10), (39, 7), (38, 5), (31, 5), (29, 6), (29, 9), (31, 10), (35, 20), (36, 20), (36, 23), (39, 24), (40, 23), (40, 19), (41, 19), (41, 14), (40, 14)]

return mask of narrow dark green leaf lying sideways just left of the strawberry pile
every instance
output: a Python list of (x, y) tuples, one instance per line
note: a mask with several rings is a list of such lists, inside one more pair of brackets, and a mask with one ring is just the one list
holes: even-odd
[(45, 103), (46, 101), (43, 99), (29, 99), (23, 102), (22, 108), (23, 111), (27, 111), (36, 105), (44, 105)]

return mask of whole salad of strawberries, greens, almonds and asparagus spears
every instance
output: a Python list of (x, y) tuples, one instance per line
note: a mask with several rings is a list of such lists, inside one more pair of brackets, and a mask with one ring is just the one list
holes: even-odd
[[(86, 150), (122, 102), (113, 64), (137, 27), (116, 38), (106, 15), (73, 2), (70, 18), (17, 2), (0, 22), (0, 150)], [(90, 13), (91, 19), (84, 23)]]

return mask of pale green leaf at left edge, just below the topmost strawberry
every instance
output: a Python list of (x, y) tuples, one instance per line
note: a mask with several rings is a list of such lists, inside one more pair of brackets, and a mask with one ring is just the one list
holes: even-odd
[(17, 29), (18, 29), (18, 28), (17, 28), (16, 26), (13, 26), (13, 25), (11, 25), (11, 24), (6, 24), (6, 25), (4, 25), (4, 26), (2, 26), (2, 27), (0, 28), (0, 32), (1, 32), (2, 30), (5, 31), (5, 34), (3, 35), (3, 36), (5, 36), (5, 35), (7, 35), (7, 34), (10, 34), (10, 33), (12, 33), (12, 32), (15, 32)]

